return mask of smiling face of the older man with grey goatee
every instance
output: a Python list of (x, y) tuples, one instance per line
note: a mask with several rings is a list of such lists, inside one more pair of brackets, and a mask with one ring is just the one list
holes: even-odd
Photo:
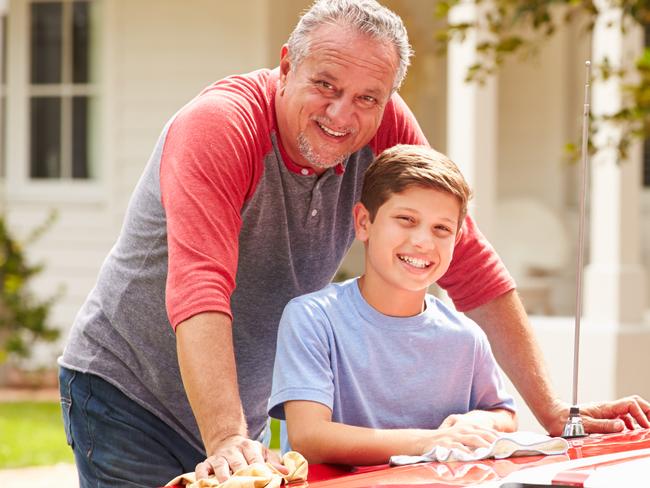
[(392, 45), (339, 25), (314, 31), (298, 66), (285, 46), (276, 111), (291, 159), (323, 170), (365, 146), (381, 123), (397, 65)]

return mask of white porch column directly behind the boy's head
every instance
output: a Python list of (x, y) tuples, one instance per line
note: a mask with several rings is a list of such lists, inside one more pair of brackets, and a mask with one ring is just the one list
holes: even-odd
[[(472, 22), (485, 4), (461, 0), (449, 13), (451, 23)], [(482, 232), (492, 236), (497, 181), (497, 80), (484, 84), (465, 81), (467, 70), (478, 61), (476, 46), (484, 33), (470, 32), (463, 42), (448, 47), (447, 153), (461, 168), (474, 198), (470, 213)]]

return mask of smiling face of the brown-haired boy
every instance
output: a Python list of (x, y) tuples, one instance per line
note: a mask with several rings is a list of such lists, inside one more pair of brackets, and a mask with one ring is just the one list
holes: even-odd
[(456, 197), (417, 186), (393, 194), (373, 222), (358, 203), (354, 220), (357, 239), (366, 245), (365, 282), (387, 297), (424, 293), (449, 267), (459, 215)]

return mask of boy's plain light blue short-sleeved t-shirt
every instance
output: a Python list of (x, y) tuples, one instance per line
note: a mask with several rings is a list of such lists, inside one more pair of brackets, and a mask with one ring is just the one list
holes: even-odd
[(389, 317), (371, 307), (357, 279), (291, 300), (278, 332), (269, 415), (309, 400), (332, 420), (373, 428), (435, 429), (454, 413), (506, 408), (485, 333), (432, 295), (425, 311)]

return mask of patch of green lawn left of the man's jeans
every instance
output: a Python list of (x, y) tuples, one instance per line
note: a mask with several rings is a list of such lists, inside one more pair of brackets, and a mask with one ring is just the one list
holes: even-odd
[(0, 403), (0, 469), (73, 463), (58, 402)]

